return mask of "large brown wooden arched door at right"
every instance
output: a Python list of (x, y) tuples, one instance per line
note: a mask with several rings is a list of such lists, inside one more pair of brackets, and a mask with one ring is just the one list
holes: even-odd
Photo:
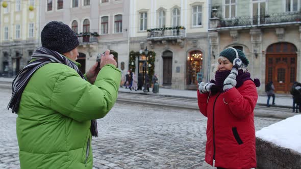
[(289, 93), (296, 81), (297, 48), (291, 43), (274, 43), (266, 50), (265, 83), (272, 81), (277, 93)]

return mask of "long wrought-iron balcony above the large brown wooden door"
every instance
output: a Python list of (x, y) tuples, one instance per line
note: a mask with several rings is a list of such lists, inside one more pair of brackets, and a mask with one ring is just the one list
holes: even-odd
[(224, 19), (219, 22), (219, 27), (252, 27), (279, 24), (301, 23), (301, 12), (285, 12), (267, 15), (240, 16)]

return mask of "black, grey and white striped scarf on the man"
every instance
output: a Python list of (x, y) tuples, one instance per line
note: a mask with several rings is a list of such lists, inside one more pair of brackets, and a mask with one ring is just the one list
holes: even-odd
[[(57, 51), (50, 50), (45, 47), (38, 47), (33, 53), (31, 59), (35, 59), (35, 61), (29, 63), (26, 67), (24, 67), (12, 82), (12, 97), (8, 103), (7, 108), (12, 109), (13, 113), (18, 113), (17, 111), (19, 108), (22, 93), (32, 75), (36, 70), (48, 63), (61, 63), (67, 65), (70, 68), (76, 70), (79, 75), (83, 79), (85, 79), (78, 66)], [(90, 130), (93, 136), (98, 136), (96, 120), (91, 120)]]

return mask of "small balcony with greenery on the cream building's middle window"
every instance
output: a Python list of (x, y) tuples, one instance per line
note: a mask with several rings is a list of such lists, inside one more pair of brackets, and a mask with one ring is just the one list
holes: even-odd
[(147, 30), (147, 40), (174, 40), (186, 37), (184, 26), (160, 27)]

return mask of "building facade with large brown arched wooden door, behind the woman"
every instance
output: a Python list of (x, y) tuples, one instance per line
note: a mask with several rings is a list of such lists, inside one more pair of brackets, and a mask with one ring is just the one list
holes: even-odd
[(289, 93), (300, 74), (300, 1), (211, 1), (209, 40), (211, 78), (224, 48), (241, 49), (249, 60), (248, 71), (259, 78), (260, 93), (272, 81), (277, 93)]

